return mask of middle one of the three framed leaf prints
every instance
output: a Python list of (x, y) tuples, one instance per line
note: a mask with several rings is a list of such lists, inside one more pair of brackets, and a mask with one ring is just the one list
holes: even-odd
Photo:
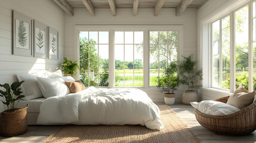
[(47, 25), (33, 20), (33, 54), (37, 58), (47, 58)]

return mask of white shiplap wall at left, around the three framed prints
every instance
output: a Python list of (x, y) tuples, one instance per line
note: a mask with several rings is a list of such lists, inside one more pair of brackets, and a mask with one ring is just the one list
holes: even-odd
[[(12, 55), (12, 10), (41, 21), (59, 32), (59, 60)], [(64, 55), (64, 12), (52, 0), (1, 0), (0, 2), (0, 83), (13, 83), (17, 73), (55, 70)], [(2, 111), (2, 104), (0, 110)]]

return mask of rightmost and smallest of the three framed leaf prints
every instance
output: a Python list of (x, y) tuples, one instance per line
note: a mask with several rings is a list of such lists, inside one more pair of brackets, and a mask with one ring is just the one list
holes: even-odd
[(48, 57), (58, 60), (58, 31), (48, 27)]

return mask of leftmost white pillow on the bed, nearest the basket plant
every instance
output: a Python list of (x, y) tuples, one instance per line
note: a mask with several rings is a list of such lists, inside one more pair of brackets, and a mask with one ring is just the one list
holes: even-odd
[(38, 79), (32, 74), (17, 74), (18, 82), (24, 80), (20, 85), (21, 95), (25, 95), (23, 100), (33, 100), (43, 97), (42, 92), (38, 86)]

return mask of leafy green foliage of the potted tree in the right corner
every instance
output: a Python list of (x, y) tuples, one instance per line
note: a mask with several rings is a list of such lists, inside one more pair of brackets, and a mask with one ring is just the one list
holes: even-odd
[(198, 61), (193, 60), (193, 55), (190, 55), (189, 57), (183, 56), (183, 61), (181, 61), (179, 65), (180, 82), (183, 85), (187, 85), (189, 91), (192, 91), (193, 88), (200, 88), (202, 86), (198, 83), (198, 80), (203, 79), (203, 71), (202, 69), (196, 69), (197, 63)]

